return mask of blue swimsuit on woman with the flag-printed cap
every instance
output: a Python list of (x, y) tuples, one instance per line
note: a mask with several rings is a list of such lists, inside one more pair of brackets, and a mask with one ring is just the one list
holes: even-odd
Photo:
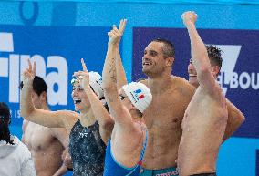
[(106, 148), (106, 156), (105, 156), (105, 169), (104, 176), (139, 176), (140, 175), (140, 167), (142, 164), (142, 160), (146, 151), (147, 143), (148, 143), (148, 130), (146, 129), (146, 139), (143, 141), (143, 147), (140, 153), (140, 161), (133, 168), (127, 168), (122, 166), (117, 162), (112, 153), (111, 153), (111, 144), (110, 140), (108, 142)]

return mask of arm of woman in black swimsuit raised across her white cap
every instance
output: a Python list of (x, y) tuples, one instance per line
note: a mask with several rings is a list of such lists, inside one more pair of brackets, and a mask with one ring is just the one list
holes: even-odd
[(75, 72), (74, 76), (77, 77), (78, 80), (80, 80), (80, 86), (84, 88), (88, 96), (88, 100), (91, 104), (91, 109), (93, 110), (95, 118), (98, 120), (101, 138), (105, 143), (107, 143), (113, 129), (114, 120), (111, 119), (108, 110), (105, 109), (102, 102), (98, 99), (98, 96), (90, 87), (90, 75), (88, 73), (88, 69), (83, 58), (81, 59), (81, 63), (83, 71)]

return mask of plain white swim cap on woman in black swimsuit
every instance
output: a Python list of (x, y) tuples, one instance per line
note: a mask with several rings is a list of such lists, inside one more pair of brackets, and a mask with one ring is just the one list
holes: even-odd
[(90, 71), (89, 72), (89, 84), (93, 88), (94, 92), (98, 95), (98, 98), (103, 98), (103, 88), (102, 88), (102, 78), (98, 72)]

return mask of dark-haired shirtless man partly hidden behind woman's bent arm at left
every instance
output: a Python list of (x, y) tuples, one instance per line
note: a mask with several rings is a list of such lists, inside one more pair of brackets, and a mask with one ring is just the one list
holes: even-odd
[[(47, 84), (43, 78), (34, 78), (32, 100), (37, 109), (49, 110)], [(58, 176), (67, 171), (61, 158), (68, 146), (66, 129), (47, 128), (24, 119), (22, 141), (32, 153), (37, 176)]]

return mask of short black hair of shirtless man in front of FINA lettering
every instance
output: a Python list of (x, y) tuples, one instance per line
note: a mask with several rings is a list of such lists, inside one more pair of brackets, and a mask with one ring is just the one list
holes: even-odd
[[(22, 89), (24, 87), (23, 81), (20, 83), (20, 88)], [(45, 80), (41, 77), (35, 76), (33, 79), (33, 90), (36, 92), (37, 96), (40, 96), (42, 92), (47, 92), (47, 84)], [(47, 101), (47, 97), (46, 97)]]

